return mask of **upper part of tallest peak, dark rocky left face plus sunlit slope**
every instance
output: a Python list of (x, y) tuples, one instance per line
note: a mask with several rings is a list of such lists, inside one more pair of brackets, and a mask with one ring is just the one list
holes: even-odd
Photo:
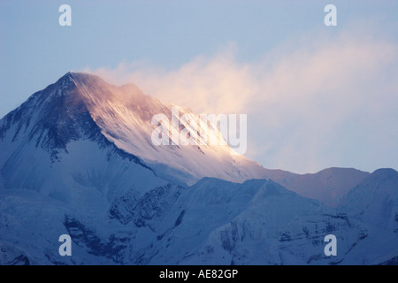
[[(71, 141), (84, 138), (103, 142), (105, 138), (127, 154), (142, 158), (159, 175), (188, 184), (203, 177), (243, 181), (279, 174), (233, 154), (226, 143), (155, 146), (151, 134), (156, 126), (151, 119), (159, 113), (172, 119), (173, 106), (144, 95), (134, 84), (116, 87), (92, 74), (69, 72), (6, 115), (0, 124), (0, 138), (12, 135), (11, 142), (15, 142), (26, 135), (54, 159), (68, 150)], [(188, 109), (179, 111), (195, 115)], [(180, 131), (180, 125), (173, 123), (172, 127)], [(204, 131), (223, 140), (217, 129)]]

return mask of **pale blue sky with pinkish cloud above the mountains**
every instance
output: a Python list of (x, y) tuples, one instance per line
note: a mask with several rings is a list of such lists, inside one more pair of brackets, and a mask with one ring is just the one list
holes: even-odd
[[(72, 27), (58, 25), (61, 4)], [(326, 4), (337, 27), (324, 25)], [(247, 156), (267, 168), (397, 169), (397, 11), (396, 1), (1, 1), (0, 116), (89, 71), (195, 111), (248, 113)]]

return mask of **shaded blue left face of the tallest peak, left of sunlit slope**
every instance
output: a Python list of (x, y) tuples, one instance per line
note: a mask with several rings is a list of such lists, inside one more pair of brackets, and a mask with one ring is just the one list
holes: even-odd
[[(0, 141), (0, 239), (13, 260), (28, 255), (30, 264), (57, 264), (52, 248), (68, 233), (65, 216), (102, 227), (115, 198), (169, 184), (103, 136), (69, 75), (1, 119)], [(87, 262), (86, 254), (77, 258)]]

